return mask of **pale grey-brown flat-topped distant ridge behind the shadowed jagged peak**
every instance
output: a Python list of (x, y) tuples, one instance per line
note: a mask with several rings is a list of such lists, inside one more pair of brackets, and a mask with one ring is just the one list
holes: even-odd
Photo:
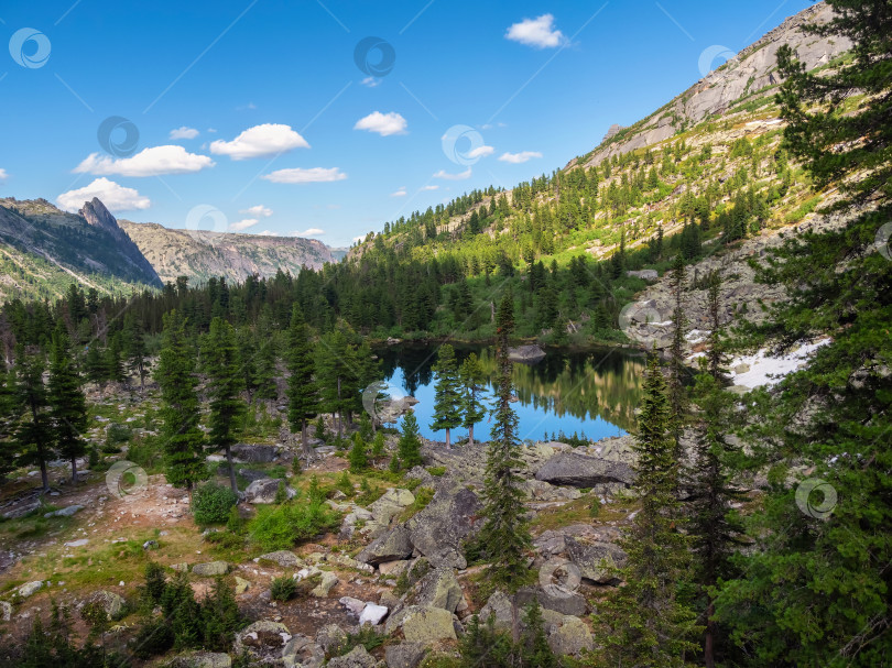
[(192, 282), (224, 276), (242, 282), (251, 274), (297, 274), (303, 265), (320, 269), (334, 262), (331, 249), (315, 239), (172, 230), (152, 222), (122, 220), (121, 227), (157, 271), (162, 281), (188, 276)]

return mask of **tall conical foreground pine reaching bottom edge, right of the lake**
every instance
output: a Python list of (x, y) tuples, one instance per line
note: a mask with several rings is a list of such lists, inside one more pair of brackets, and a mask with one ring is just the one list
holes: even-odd
[(620, 569), (626, 585), (603, 602), (598, 616), (605, 666), (693, 666), (685, 657), (696, 651), (693, 638), (701, 627), (677, 594), (689, 566), (689, 539), (678, 530), (678, 460), (671, 428), (666, 382), (651, 358), (633, 446), (641, 510), (620, 540), (628, 555)]

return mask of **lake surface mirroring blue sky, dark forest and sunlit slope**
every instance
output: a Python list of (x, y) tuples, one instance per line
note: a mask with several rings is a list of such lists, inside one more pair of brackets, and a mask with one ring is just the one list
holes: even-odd
[[(492, 396), (496, 373), (494, 350), (489, 347), (455, 346), (458, 363), (471, 352), (480, 358), (489, 377), (488, 396)], [(512, 407), (519, 418), (521, 440), (551, 438), (563, 430), (588, 438), (621, 436), (634, 424), (634, 409), (641, 392), (644, 358), (628, 351), (605, 348), (590, 352), (547, 351), (534, 365), (514, 364)], [(436, 346), (394, 346), (378, 350), (384, 379), (418, 399), (415, 415), (424, 437), (445, 440), (444, 431), (429, 427), (434, 414), (432, 365)], [(492, 426), (489, 416), (477, 425), (477, 439), (488, 440)], [(453, 440), (467, 436), (455, 429)]]

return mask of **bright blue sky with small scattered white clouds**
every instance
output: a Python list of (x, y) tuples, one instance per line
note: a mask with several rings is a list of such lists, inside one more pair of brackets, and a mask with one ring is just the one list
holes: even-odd
[(128, 4), (0, 6), (0, 197), (348, 245), (563, 166), (811, 3)]

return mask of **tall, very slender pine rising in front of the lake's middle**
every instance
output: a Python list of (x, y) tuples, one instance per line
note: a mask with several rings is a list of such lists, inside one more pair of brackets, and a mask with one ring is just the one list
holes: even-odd
[(497, 399), (492, 410), (493, 425), (483, 486), (483, 517), (477, 544), (492, 567), (488, 572), (497, 582), (513, 587), (526, 573), (525, 552), (532, 544), (524, 518), (521, 477), (514, 471), (523, 467), (518, 440), (518, 416), (511, 408), (513, 395), (512, 369), (508, 357), (511, 332), (514, 330), (513, 299), (505, 294), (499, 304), (497, 335)]

